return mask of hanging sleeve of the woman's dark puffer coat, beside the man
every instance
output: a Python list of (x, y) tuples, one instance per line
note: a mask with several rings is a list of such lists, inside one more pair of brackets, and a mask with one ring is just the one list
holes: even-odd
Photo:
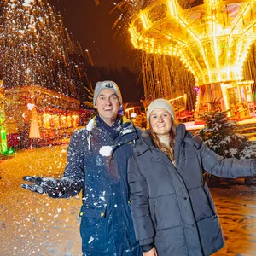
[(154, 224), (148, 201), (148, 184), (134, 157), (128, 163), (128, 182), (131, 189), (131, 215), (136, 238), (140, 245), (154, 242)]

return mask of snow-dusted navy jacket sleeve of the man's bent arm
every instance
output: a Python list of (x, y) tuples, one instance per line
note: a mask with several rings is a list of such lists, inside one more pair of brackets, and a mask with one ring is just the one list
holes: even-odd
[(51, 197), (71, 197), (84, 188), (84, 155), (81, 135), (74, 132), (67, 148), (67, 166), (63, 177), (58, 181), (60, 193), (49, 193)]

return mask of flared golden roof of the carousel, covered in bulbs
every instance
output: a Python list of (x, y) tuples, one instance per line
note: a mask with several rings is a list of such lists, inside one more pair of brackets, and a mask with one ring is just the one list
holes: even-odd
[(131, 21), (137, 49), (177, 55), (197, 84), (242, 79), (256, 38), (256, 1), (157, 0)]

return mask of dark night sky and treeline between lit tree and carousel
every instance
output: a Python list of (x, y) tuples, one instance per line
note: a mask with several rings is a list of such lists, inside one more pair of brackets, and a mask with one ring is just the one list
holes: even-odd
[[(49, 0), (55, 12), (60, 13), (64, 26), (79, 42), (86, 57), (90, 52), (94, 67), (86, 71), (93, 86), (97, 81), (110, 79), (119, 84), (124, 102), (143, 99), (143, 81), (140, 76), (138, 52), (133, 49), (130, 36), (124, 28), (112, 29), (119, 13), (113, 1), (100, 0)], [(88, 99), (85, 99), (88, 100)]]

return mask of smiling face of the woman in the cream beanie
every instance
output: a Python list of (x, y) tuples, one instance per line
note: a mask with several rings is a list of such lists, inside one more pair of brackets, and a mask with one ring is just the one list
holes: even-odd
[(149, 124), (156, 135), (170, 137), (172, 116), (165, 108), (155, 108), (150, 113)]

